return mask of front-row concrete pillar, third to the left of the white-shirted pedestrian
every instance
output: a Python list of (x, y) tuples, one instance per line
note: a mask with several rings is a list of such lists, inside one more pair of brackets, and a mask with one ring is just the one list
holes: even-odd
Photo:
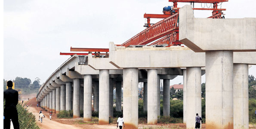
[(73, 118), (80, 117), (80, 79), (74, 79), (74, 107), (73, 107)]

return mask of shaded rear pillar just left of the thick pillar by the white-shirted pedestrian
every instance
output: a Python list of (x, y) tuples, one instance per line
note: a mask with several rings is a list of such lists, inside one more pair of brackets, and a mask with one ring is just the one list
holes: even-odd
[(116, 82), (116, 111), (122, 111), (122, 82)]

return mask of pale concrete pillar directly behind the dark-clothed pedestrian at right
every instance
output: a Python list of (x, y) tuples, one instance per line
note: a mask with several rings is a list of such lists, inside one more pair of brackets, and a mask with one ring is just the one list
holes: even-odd
[(194, 128), (196, 114), (201, 117), (201, 68), (187, 67), (187, 129)]

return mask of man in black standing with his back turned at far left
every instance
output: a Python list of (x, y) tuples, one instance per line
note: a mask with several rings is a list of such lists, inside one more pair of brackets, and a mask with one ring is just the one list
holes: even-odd
[(19, 129), (18, 112), (16, 105), (18, 104), (18, 91), (12, 89), (12, 81), (7, 82), (8, 89), (3, 92), (3, 100), (5, 99), (4, 108), (4, 129), (10, 129), (11, 121), (14, 129)]

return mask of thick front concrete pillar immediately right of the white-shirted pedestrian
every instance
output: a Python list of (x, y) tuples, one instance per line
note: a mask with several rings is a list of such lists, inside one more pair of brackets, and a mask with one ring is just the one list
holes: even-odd
[(138, 129), (138, 68), (123, 68), (123, 120), (126, 129)]

